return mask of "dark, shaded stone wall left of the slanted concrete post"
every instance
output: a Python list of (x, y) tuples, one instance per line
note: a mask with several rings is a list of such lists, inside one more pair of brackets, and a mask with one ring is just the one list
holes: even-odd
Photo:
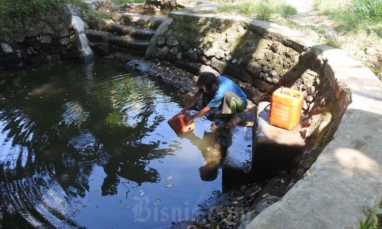
[(78, 58), (77, 37), (66, 14), (26, 17), (14, 34), (0, 36), (0, 68)]

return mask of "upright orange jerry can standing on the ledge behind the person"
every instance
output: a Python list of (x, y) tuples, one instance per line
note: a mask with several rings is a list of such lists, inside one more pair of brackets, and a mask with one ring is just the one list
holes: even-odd
[(303, 107), (303, 93), (281, 87), (271, 97), (269, 124), (291, 130), (300, 121)]

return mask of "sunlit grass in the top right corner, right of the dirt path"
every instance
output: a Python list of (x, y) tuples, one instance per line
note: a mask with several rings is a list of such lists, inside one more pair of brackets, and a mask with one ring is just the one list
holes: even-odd
[[(346, 50), (361, 62), (364, 62), (366, 47), (382, 46), (382, 0), (315, 0), (315, 7), (334, 21), (339, 35), (322, 39), (324, 44), (336, 43), (334, 47)], [(380, 69), (370, 69), (382, 80)]]

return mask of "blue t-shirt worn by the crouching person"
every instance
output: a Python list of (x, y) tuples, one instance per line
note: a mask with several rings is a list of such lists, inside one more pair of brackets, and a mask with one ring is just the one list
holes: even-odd
[(207, 104), (209, 107), (220, 107), (220, 105), (222, 105), (223, 97), (226, 92), (232, 92), (236, 94), (244, 102), (245, 106), (248, 105), (247, 95), (245, 95), (245, 93), (241, 91), (241, 89), (235, 82), (233, 82), (225, 76), (217, 76), (217, 80), (219, 81), (219, 89), (217, 89), (212, 100)]

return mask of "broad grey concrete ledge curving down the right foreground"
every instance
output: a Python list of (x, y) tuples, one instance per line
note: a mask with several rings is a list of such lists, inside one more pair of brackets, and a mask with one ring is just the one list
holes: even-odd
[(342, 121), (311, 176), (245, 228), (359, 228), (365, 208), (381, 203), (382, 83), (339, 49), (323, 48), (317, 60), (342, 105)]

